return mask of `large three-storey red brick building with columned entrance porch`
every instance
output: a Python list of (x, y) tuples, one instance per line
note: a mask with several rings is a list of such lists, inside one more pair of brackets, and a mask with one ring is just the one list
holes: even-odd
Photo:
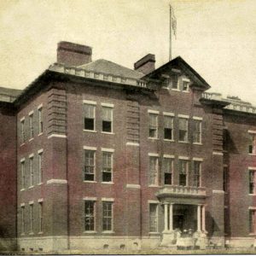
[(91, 55), (61, 42), (25, 90), (0, 90), (0, 246), (176, 247), (177, 229), (253, 245), (256, 108), (181, 57)]

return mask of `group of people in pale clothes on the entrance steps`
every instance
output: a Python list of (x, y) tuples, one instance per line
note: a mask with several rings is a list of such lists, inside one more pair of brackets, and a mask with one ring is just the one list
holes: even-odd
[(189, 230), (175, 230), (176, 245), (178, 249), (206, 249), (207, 234), (204, 231)]

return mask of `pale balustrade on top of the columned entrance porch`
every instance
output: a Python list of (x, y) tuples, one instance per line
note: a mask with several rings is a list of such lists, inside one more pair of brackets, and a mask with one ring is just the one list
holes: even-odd
[(184, 187), (178, 185), (164, 186), (157, 193), (158, 196), (165, 195), (195, 195), (195, 196), (206, 196), (207, 191), (201, 187)]

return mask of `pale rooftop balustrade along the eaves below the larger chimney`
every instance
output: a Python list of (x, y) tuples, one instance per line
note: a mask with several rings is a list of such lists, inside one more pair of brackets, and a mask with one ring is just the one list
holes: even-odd
[(65, 67), (65, 65), (61, 63), (55, 63), (51, 65), (49, 67), (49, 70), (59, 72), (59, 73), (72, 74), (72, 75), (83, 77), (83, 78), (98, 79), (98, 80), (103, 80), (103, 81), (108, 81), (108, 82), (113, 82), (118, 84), (128, 84), (128, 85), (133, 85), (137, 87), (147, 88), (147, 83), (140, 79), (119, 77), (119, 76), (114, 76), (113, 74), (110, 74), (110, 73), (98, 73), (98, 72), (96, 73), (96, 72), (88, 71), (86, 69), (79, 68), (79, 67)]

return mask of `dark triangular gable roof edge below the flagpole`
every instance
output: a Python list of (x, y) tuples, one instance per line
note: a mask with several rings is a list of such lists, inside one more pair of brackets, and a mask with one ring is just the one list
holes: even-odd
[(172, 67), (180, 68), (183, 73), (185, 73), (192, 81), (195, 82), (196, 85), (200, 86), (204, 90), (211, 88), (211, 86), (207, 83), (205, 79), (201, 77), (199, 73), (195, 71), (195, 69), (183, 60), (181, 56), (177, 56), (177, 58), (172, 61), (167, 62), (161, 67), (158, 67), (153, 72), (148, 73), (144, 78), (145, 79), (160, 79), (160, 75), (165, 73), (168, 70), (171, 70)]

